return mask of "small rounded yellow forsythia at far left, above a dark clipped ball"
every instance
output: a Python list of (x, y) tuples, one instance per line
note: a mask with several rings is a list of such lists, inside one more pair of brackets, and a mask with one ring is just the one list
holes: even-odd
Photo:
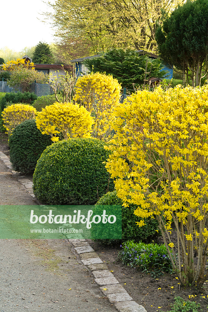
[(3, 125), (7, 129), (7, 133), (11, 134), (18, 124), (26, 119), (34, 119), (35, 115), (36, 109), (31, 105), (12, 104), (2, 111)]

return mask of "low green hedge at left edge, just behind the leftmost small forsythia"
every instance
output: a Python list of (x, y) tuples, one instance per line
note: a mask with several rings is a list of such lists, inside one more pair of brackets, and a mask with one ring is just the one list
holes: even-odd
[(35, 93), (30, 92), (11, 92), (6, 93), (5, 96), (3, 96), (0, 100), (0, 109), (3, 111), (8, 103), (26, 103), (26, 104), (32, 104), (33, 101), (37, 99), (37, 95)]

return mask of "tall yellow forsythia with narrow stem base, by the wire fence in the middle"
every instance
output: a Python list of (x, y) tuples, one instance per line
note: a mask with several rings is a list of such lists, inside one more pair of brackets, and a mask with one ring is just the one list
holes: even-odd
[(119, 105), (120, 90), (117, 79), (98, 72), (80, 76), (77, 80), (74, 100), (93, 116), (92, 133), (97, 139), (105, 139), (111, 133), (112, 111)]

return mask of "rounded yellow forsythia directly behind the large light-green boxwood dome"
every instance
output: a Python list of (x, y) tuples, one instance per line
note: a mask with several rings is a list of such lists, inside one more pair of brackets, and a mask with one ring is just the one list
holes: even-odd
[(93, 119), (87, 110), (71, 103), (58, 103), (46, 106), (37, 114), (36, 124), (42, 134), (50, 134), (53, 142), (59, 141), (57, 134), (64, 139), (89, 138)]

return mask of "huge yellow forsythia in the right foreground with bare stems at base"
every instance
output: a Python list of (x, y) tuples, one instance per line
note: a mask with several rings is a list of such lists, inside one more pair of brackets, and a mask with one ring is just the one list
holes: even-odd
[(118, 197), (138, 205), (139, 226), (158, 220), (177, 278), (201, 287), (208, 278), (208, 87), (140, 91), (115, 114), (106, 168)]

